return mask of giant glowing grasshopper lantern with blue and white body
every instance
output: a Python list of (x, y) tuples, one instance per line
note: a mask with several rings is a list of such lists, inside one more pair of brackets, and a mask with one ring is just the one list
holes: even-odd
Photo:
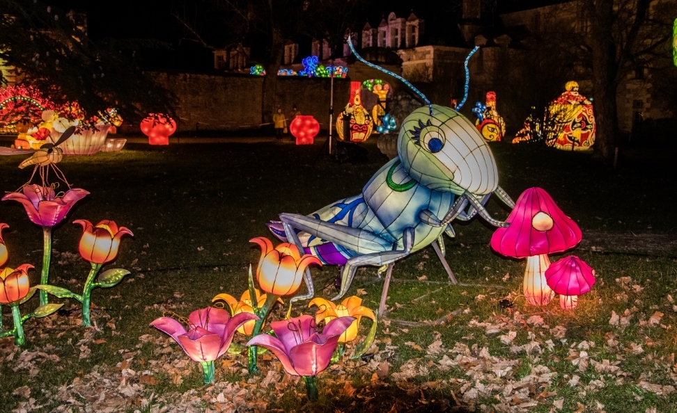
[[(299, 250), (315, 255), (323, 264), (342, 266), (341, 289), (332, 300), (348, 292), (358, 267), (381, 266), (381, 273), (389, 264), (379, 314), (384, 313), (395, 261), (432, 244), (451, 282), (456, 284), (444, 259), (442, 234), (454, 236), (451, 222), (469, 220), (476, 214), (492, 225), (506, 226), (484, 207), (492, 193), (511, 208), (514, 206), (498, 186), (494, 157), (476, 127), (457, 111), (430, 104), (421, 92), (405, 83), (428, 106), (405, 118), (398, 135), (398, 156), (376, 172), (361, 194), (329, 204), (309, 216), (281, 213), (281, 221), (268, 224), (282, 241), (295, 243)], [(313, 297), (308, 269), (304, 280), (308, 293), (293, 300)]]

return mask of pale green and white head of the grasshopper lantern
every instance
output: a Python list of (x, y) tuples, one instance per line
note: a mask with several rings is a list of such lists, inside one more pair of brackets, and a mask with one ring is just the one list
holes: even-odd
[(405, 118), (398, 155), (409, 175), (436, 191), (486, 195), (498, 186), (496, 162), (485, 140), (463, 115), (433, 105)]

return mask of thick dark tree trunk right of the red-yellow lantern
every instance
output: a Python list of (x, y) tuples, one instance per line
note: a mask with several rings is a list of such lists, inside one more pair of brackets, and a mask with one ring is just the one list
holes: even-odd
[(593, 65), (593, 96), (597, 133), (593, 156), (611, 164), (618, 136), (616, 92), (618, 67), (613, 37), (614, 1), (593, 1), (590, 45)]

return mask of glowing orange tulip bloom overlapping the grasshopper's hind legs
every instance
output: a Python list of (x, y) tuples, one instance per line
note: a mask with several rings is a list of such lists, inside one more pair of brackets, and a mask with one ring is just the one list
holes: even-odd
[(258, 236), (249, 240), (261, 248), (261, 258), (256, 269), (258, 285), (266, 293), (273, 295), (293, 294), (301, 286), (303, 273), (310, 264), (320, 263), (320, 259), (311, 254), (301, 256), (294, 244), (281, 243), (273, 248), (268, 238)]

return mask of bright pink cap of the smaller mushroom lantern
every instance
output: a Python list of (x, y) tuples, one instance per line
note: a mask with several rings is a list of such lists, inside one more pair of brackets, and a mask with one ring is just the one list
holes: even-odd
[(581, 295), (595, 285), (595, 270), (579, 257), (570, 255), (545, 270), (545, 282), (555, 293)]

